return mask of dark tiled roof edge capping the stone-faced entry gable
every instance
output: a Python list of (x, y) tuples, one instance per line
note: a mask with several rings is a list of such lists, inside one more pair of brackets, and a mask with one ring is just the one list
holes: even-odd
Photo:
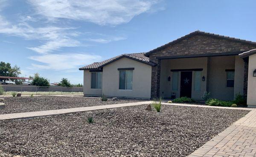
[(148, 55), (151, 54), (152, 52), (158, 51), (158, 50), (160, 50), (160, 49), (164, 49), (164, 48), (166, 48), (167, 46), (171, 46), (171, 45), (173, 45), (173, 44), (175, 44), (175, 43), (177, 43), (177, 42), (179, 42), (179, 41), (181, 41), (181, 40), (186, 39), (187, 37), (191, 37), (191, 36), (196, 35), (196, 34), (203, 34), (203, 35), (208, 35), (208, 36), (212, 36), (212, 37), (224, 38), (224, 39), (228, 39), (228, 40), (239, 41), (239, 42), (242, 42), (242, 43), (248, 43), (248, 44), (256, 45), (256, 42), (252, 42), (252, 41), (249, 41), (249, 40), (242, 40), (242, 39), (239, 39), (239, 38), (228, 37), (228, 36), (224, 36), (224, 35), (213, 34), (213, 33), (208, 33), (208, 32), (204, 32), (204, 31), (196, 30), (196, 31), (194, 31), (194, 32), (192, 32), (192, 33), (189, 33), (189, 34), (183, 36), (183, 37), (180, 37), (180, 38), (178, 38), (178, 39), (176, 39), (176, 40), (173, 40), (173, 41), (170, 42), (170, 43), (167, 43), (167, 44), (165, 44), (165, 45), (163, 45), (163, 46), (160, 46), (160, 47), (158, 47), (158, 48), (156, 48), (156, 49), (153, 49), (153, 50), (151, 50), (151, 51), (148, 51), (148, 52), (145, 53), (144, 55), (145, 55), (145, 56), (148, 56)]

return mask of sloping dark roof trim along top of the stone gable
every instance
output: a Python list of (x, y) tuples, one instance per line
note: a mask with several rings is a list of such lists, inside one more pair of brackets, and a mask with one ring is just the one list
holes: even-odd
[(227, 36), (224, 36), (224, 35), (219, 35), (219, 34), (212, 34), (212, 33), (207, 33), (207, 32), (204, 32), (204, 31), (194, 31), (190, 34), (187, 34), (183, 37), (180, 37), (176, 40), (173, 40), (172, 42), (170, 43), (167, 43), (163, 46), (160, 46), (156, 49), (153, 49), (151, 51), (148, 51), (147, 53), (145, 53), (144, 55), (145, 56), (149, 56), (149, 54), (153, 53), (153, 52), (156, 52), (156, 51), (159, 51), (159, 50), (162, 50), (162, 49), (165, 49), (166, 47), (169, 47), (169, 46), (172, 46), (172, 45), (175, 45), (176, 43), (179, 43), (183, 40), (186, 40), (188, 39), (189, 37), (193, 37), (193, 36), (196, 36), (196, 35), (204, 35), (204, 36), (208, 36), (208, 37), (213, 37), (213, 38), (218, 38), (218, 39), (226, 39), (226, 40), (230, 40), (231, 42), (239, 42), (239, 43), (245, 43), (245, 44), (250, 44), (250, 45), (254, 45), (256, 46), (256, 42), (252, 42), (252, 41), (249, 41), (249, 40), (241, 40), (239, 38), (234, 38), (234, 37), (227, 37)]

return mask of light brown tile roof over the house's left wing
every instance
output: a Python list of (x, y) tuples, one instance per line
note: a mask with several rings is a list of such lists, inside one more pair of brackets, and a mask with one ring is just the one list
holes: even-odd
[(89, 64), (87, 66), (81, 67), (81, 68), (79, 68), (79, 70), (96, 70), (96, 69), (100, 69), (103, 66), (108, 65), (109, 63), (112, 63), (113, 61), (118, 60), (118, 59), (120, 59), (122, 57), (127, 57), (127, 58), (130, 58), (132, 60), (136, 60), (138, 62), (148, 64), (150, 66), (155, 66), (156, 63), (150, 62), (149, 58), (145, 57), (144, 54), (145, 53), (121, 54), (119, 56), (110, 58), (108, 60), (104, 60), (102, 62), (96, 62), (96, 63)]

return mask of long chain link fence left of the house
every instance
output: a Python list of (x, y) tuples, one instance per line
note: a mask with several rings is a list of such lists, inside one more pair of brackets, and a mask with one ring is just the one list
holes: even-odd
[(58, 86), (6, 86), (0, 85), (4, 90), (4, 95), (12, 95), (12, 92), (22, 95), (67, 95), (83, 94), (83, 87), (58, 87)]

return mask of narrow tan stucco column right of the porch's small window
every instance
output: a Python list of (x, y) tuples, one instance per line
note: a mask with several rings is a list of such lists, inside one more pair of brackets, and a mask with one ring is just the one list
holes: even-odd
[(234, 98), (236, 94), (244, 94), (244, 60), (239, 56), (235, 58)]

